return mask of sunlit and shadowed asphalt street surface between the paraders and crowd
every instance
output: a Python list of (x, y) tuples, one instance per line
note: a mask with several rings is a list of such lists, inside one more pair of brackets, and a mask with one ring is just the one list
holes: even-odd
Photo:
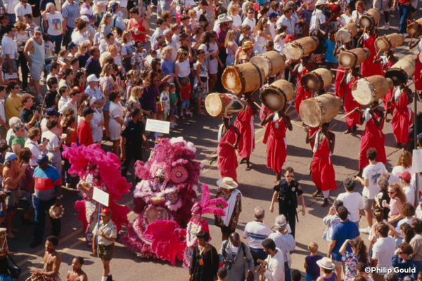
[[(419, 9), (418, 9), (419, 10)], [(153, 10), (155, 12), (155, 9)], [(418, 11), (414, 18), (421, 18), (422, 13)], [(397, 32), (399, 17), (398, 13), (394, 12), (390, 15), (391, 28), (388, 32), (380, 30), (380, 35)], [(150, 26), (155, 29), (155, 13), (150, 20)], [(380, 27), (384, 26), (384, 17), (381, 15)], [(151, 30), (151, 34), (153, 32)], [(396, 48), (395, 54), (398, 58), (411, 53), (407, 44), (410, 38), (408, 37), (402, 46)], [(333, 91), (333, 90), (331, 90)], [(45, 91), (44, 91), (45, 92)], [(255, 100), (259, 100), (257, 96)], [(412, 105), (413, 110), (413, 105)], [(421, 103), (418, 102), (418, 109), (421, 110)], [(297, 116), (293, 107), (290, 107), (288, 112), (293, 122), (300, 124), (300, 119)], [(359, 139), (364, 129), (364, 126), (359, 126), (356, 133), (343, 135), (345, 131), (345, 119), (342, 119), (343, 110), (340, 110), (338, 116), (331, 122), (331, 126), (336, 124), (333, 132), (336, 135), (335, 150), (333, 154), (333, 164), (335, 169), (335, 180), (338, 185), (338, 190), (331, 191), (330, 203), (332, 204), (335, 197), (340, 192), (345, 192), (343, 188), (343, 180), (357, 171), (359, 158)], [(200, 183), (206, 183), (210, 186), (210, 192), (215, 195), (216, 181), (219, 179), (219, 172), (217, 170), (217, 163), (210, 164), (210, 155), (217, 149), (217, 130), (221, 123), (220, 118), (210, 116), (188, 117), (183, 121), (178, 122), (179, 126), (172, 130), (170, 135), (165, 137), (179, 137), (183, 136), (186, 141), (194, 143), (198, 149), (196, 157), (198, 161), (203, 162), (203, 176), (200, 177)], [(255, 150), (252, 152), (250, 161), (252, 163), (251, 171), (244, 171), (245, 164), (238, 167), (238, 181), (241, 185), (239, 188), (243, 194), (242, 213), (238, 222), (236, 231), (241, 234), (248, 221), (253, 220), (253, 209), (257, 206), (263, 207), (267, 213), (264, 222), (269, 226), (273, 226), (274, 218), (277, 211), (269, 212), (269, 204), (273, 194), (272, 188), (274, 186), (275, 175), (271, 169), (266, 167), (266, 148), (262, 144), (262, 137), (264, 130), (259, 125), (260, 120), (255, 118)], [(395, 145), (395, 138), (392, 135), (392, 129), (389, 122), (385, 123), (385, 150), (388, 157), (387, 169), (392, 170), (395, 166), (397, 158), (402, 150), (393, 148)], [(293, 269), (301, 271), (303, 279), (304, 273), (304, 258), (309, 254), (307, 245), (309, 242), (317, 242), (319, 244), (319, 254), (326, 256), (328, 251), (328, 243), (322, 239), (325, 230), (322, 218), (328, 213), (328, 208), (321, 208), (322, 197), (312, 198), (311, 194), (315, 191), (312, 178), (309, 175), (309, 164), (311, 162), (312, 151), (309, 145), (305, 144), (305, 131), (298, 126), (293, 126), (293, 131), (287, 131), (287, 159), (284, 167), (293, 166), (295, 169), (295, 179), (300, 182), (304, 191), (306, 215), (302, 216), (298, 208), (299, 223), (296, 225), (296, 249), (292, 255)], [(111, 150), (111, 143), (103, 142), (104, 150)], [(148, 158), (149, 152), (145, 152), (144, 160)], [(284, 171), (283, 171), (284, 172)], [(133, 171), (132, 171), (133, 174)], [(134, 182), (134, 177), (128, 177), (128, 181)], [(362, 185), (357, 183), (356, 191), (362, 194)], [(134, 186), (132, 186), (134, 190)], [(84, 241), (84, 230), (82, 223), (77, 221), (77, 211), (73, 208), (76, 200), (81, 200), (78, 197), (78, 192), (75, 189), (75, 184), (71, 189), (63, 189), (63, 206), (65, 207), (65, 215), (62, 218), (62, 232), (60, 234), (60, 243), (57, 250), (62, 256), (62, 263), (60, 266), (60, 276), (65, 280), (66, 273), (71, 269), (71, 262), (73, 257), (82, 256), (85, 259), (85, 264), (82, 269), (88, 274), (89, 280), (100, 280), (101, 278), (101, 261), (98, 257), (93, 256), (91, 248), (87, 247)], [(127, 204), (132, 207), (132, 194), (124, 195), (121, 204)], [(278, 209), (276, 206), (275, 210)], [(8, 240), (10, 251), (14, 251), (14, 259), (22, 268), (23, 273), (20, 280), (26, 280), (30, 276), (29, 268), (42, 267), (42, 257), (44, 256), (44, 247), (39, 246), (35, 249), (30, 249), (29, 245), (32, 241), (33, 227), (21, 226), (19, 216), (27, 209), (27, 202), (20, 202), (20, 209), (17, 211), (13, 227), (20, 230), (15, 233), (15, 239)], [(129, 221), (133, 221), (136, 214), (131, 212), (129, 214)], [(213, 226), (214, 218), (210, 215), (205, 215), (207, 222), (210, 224), (210, 234), (212, 237), (211, 244), (219, 249), (222, 243), (222, 237), (219, 228)], [(32, 221), (34, 218), (31, 218)], [(362, 217), (360, 222), (361, 228), (366, 227), (366, 219)], [(5, 226), (3, 226), (5, 227)], [(50, 233), (50, 222), (46, 221), (45, 236)], [(125, 228), (120, 232), (119, 237), (125, 233)], [(367, 241), (367, 235), (362, 235), (362, 239)], [(247, 242), (243, 240), (243, 242)], [(158, 259), (142, 259), (132, 251), (129, 251), (119, 240), (116, 240), (115, 254), (110, 263), (111, 273), (113, 279), (117, 281), (123, 280), (188, 280), (188, 272), (181, 267), (181, 262), (177, 262), (172, 266), (167, 261), (160, 261)], [(255, 277), (255, 279), (257, 276)]]

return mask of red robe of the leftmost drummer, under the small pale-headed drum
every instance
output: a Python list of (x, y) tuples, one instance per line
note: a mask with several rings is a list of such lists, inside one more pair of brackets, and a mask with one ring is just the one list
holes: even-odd
[(227, 142), (236, 145), (237, 135), (234, 132), (234, 126), (231, 126), (229, 131), (226, 131), (224, 136), (220, 138), (217, 147), (217, 168), (220, 173), (220, 178), (233, 178), (236, 183), (238, 167), (236, 151)]

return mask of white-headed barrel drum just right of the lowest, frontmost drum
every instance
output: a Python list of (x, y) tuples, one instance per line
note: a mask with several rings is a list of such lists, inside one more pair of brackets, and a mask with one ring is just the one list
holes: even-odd
[(393, 86), (392, 79), (373, 75), (354, 82), (352, 96), (361, 105), (370, 105), (373, 101), (383, 98)]

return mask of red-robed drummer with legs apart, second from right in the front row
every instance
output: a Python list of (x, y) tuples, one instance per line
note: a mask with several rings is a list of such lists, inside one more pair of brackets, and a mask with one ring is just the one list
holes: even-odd
[(362, 176), (364, 167), (369, 164), (369, 159), (366, 157), (366, 150), (369, 150), (369, 148), (376, 148), (376, 162), (387, 163), (384, 147), (385, 136), (383, 133), (384, 112), (378, 110), (378, 100), (373, 102), (371, 108), (367, 108), (362, 112), (361, 124), (365, 124), (365, 130), (360, 141), (359, 172), (357, 176)]

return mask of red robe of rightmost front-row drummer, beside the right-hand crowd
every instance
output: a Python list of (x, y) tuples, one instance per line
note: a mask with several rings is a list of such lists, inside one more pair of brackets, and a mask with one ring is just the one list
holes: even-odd
[[(397, 91), (401, 91), (397, 89)], [(391, 119), (392, 133), (397, 143), (406, 143), (409, 138), (409, 127), (413, 112), (407, 107), (407, 95), (402, 91), (400, 96), (394, 100), (395, 110)]]

